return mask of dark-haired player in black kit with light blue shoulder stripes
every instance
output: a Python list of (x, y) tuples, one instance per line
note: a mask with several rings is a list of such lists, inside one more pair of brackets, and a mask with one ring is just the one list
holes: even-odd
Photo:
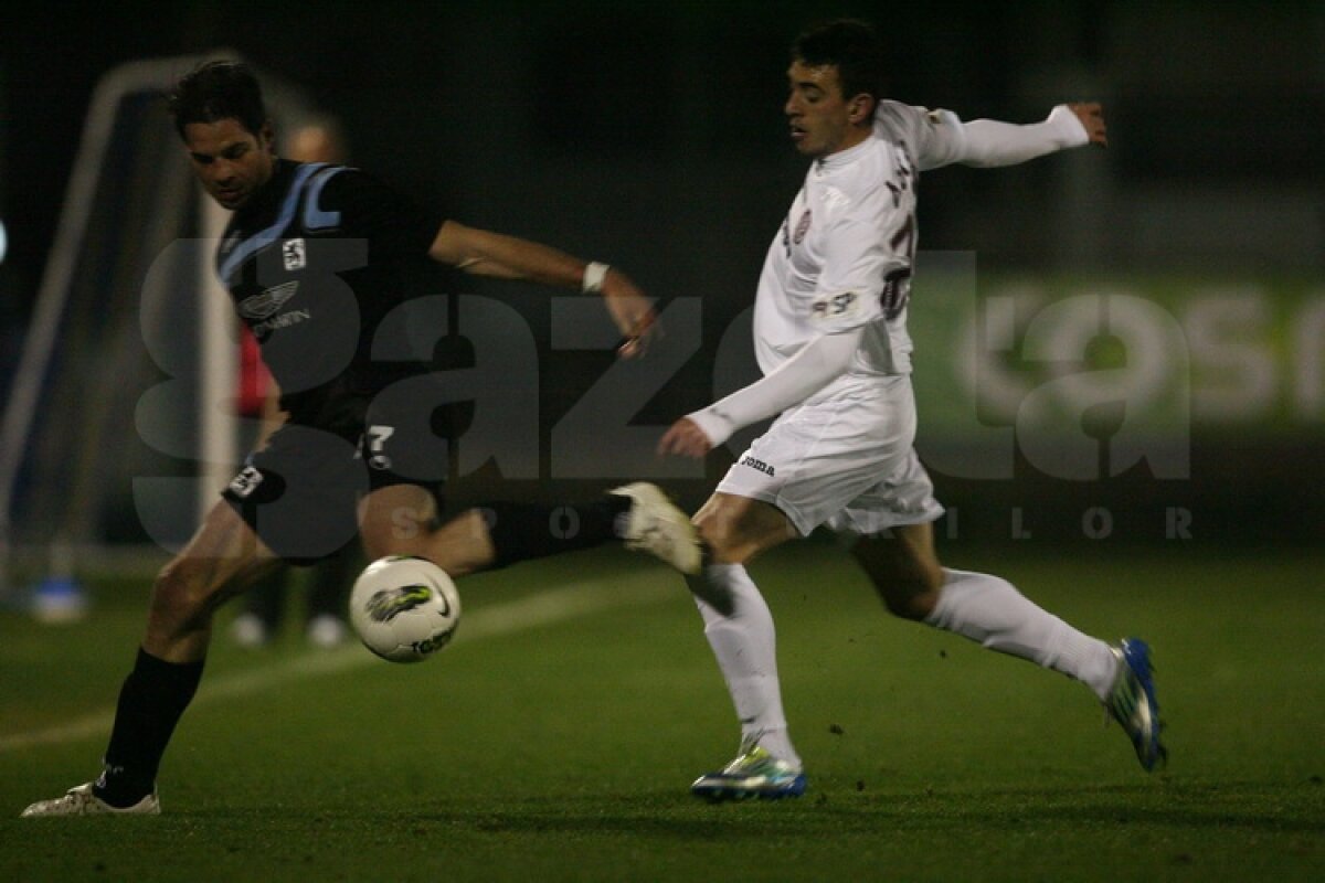
[(421, 294), (417, 265), (602, 295), (631, 357), (655, 315), (624, 274), (443, 220), (358, 169), (280, 159), (244, 65), (189, 73), (171, 113), (197, 179), (235, 213), (217, 273), (261, 343), (288, 418), (158, 576), (102, 776), (24, 815), (159, 813), (158, 767), (201, 678), (212, 616), (281, 560), (318, 561), (358, 537), (370, 559), (417, 555), (462, 576), (623, 539), (698, 568), (689, 520), (652, 485), (575, 507), (574, 532), (554, 530), (555, 510), (533, 504), (435, 520), (447, 465), (429, 421), (448, 398), (415, 340), (431, 346), (437, 335), (408, 312), (409, 295)]

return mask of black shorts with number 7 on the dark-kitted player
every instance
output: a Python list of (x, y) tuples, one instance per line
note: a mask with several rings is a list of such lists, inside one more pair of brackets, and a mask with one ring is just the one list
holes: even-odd
[(380, 487), (415, 485), (443, 506), (448, 457), (431, 409), (420, 409), (408, 387), (350, 404), (337, 410), (362, 420), (277, 429), (221, 494), (292, 564), (314, 564), (355, 540), (359, 502)]

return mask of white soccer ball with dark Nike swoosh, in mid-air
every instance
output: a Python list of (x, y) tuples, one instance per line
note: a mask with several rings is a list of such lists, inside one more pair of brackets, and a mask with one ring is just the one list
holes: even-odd
[(441, 650), (460, 625), (460, 593), (428, 559), (392, 555), (359, 575), (350, 624), (363, 646), (391, 662), (419, 662)]

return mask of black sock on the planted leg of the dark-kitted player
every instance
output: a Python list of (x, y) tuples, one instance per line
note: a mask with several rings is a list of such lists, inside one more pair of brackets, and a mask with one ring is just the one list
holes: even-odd
[(93, 786), (97, 797), (111, 806), (131, 806), (152, 793), (166, 744), (201, 678), (203, 661), (174, 663), (138, 650), (119, 691), (106, 768)]

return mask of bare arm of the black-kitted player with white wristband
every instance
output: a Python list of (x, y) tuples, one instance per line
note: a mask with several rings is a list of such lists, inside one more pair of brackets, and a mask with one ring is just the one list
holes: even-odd
[(525, 279), (600, 294), (625, 343), (623, 356), (641, 355), (655, 331), (653, 306), (629, 277), (603, 263), (587, 263), (554, 248), (447, 221), (428, 256), (474, 275)]

